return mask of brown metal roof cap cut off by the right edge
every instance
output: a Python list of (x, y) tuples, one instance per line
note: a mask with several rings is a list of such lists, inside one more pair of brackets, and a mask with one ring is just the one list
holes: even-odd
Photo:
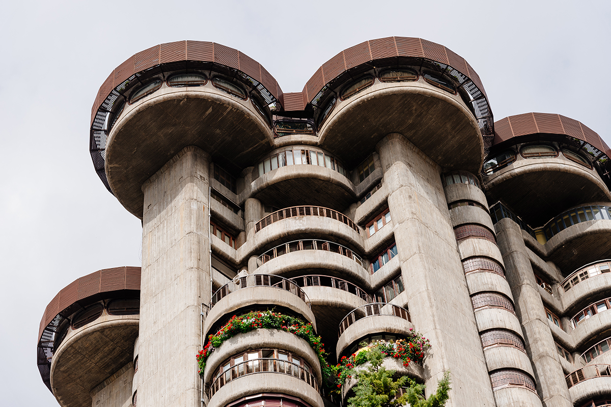
[[(532, 134), (568, 135), (590, 144), (611, 157), (611, 149), (595, 131), (580, 121), (555, 113), (522, 113), (494, 122), (492, 145)], [(519, 139), (516, 142), (519, 142)]]

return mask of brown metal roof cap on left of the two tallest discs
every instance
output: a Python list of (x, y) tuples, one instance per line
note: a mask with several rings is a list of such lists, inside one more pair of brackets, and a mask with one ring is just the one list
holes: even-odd
[(243, 52), (209, 41), (176, 41), (138, 52), (115, 68), (101, 85), (93, 102), (91, 124), (106, 97), (128, 77), (158, 65), (187, 60), (213, 62), (240, 70), (265, 86), (276, 99), (282, 96), (282, 90), (276, 79), (260, 63)]

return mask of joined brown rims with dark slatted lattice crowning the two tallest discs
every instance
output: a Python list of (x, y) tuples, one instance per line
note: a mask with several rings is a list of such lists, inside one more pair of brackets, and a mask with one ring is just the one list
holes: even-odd
[[(303, 91), (296, 93), (283, 93), (277, 81), (260, 63), (236, 49), (205, 41), (177, 41), (134, 54), (115, 68), (101, 85), (91, 115), (93, 165), (104, 185), (111, 190), (105, 172), (106, 145), (112, 121), (117, 120), (120, 114), (117, 105), (127, 99), (135, 87), (146, 85), (155, 76), (165, 77), (167, 73), (181, 71), (219, 73), (249, 87), (265, 104), (273, 107), (276, 114), (290, 115), (291, 111), (301, 111), (313, 116), (317, 110), (318, 114), (321, 113), (319, 105), (326, 103), (326, 99), (345, 82), (353, 81), (374, 68), (403, 66), (436, 71), (455, 82), (456, 88), (467, 96), (465, 103), (477, 120), (488, 149), (494, 134), (492, 112), (478, 74), (455, 52), (431, 41), (408, 37), (365, 41), (339, 52), (324, 63), (307, 81)], [(230, 160), (230, 157), (220, 158)], [(156, 171), (163, 164), (148, 170)]]

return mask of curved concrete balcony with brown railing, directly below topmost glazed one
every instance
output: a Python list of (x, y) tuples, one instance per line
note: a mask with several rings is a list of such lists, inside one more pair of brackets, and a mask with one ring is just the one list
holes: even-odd
[[(255, 250), (266, 250), (274, 242), (329, 239), (363, 251), (359, 227), (346, 215), (321, 206), (294, 206), (280, 209), (255, 224)], [(276, 243), (277, 244), (277, 243)]]

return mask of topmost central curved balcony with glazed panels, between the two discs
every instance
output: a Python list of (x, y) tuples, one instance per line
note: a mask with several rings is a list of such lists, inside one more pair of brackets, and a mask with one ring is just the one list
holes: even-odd
[(277, 206), (307, 203), (343, 209), (356, 200), (343, 164), (316, 147), (275, 150), (258, 163), (255, 172), (258, 178), (252, 182), (252, 195)]

